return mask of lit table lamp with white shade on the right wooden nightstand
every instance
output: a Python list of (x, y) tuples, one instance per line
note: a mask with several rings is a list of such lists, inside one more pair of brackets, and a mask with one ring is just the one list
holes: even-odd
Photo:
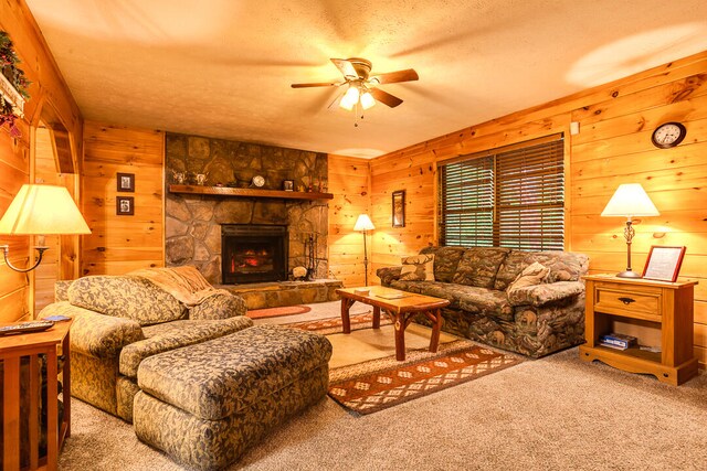
[(621, 216), (626, 218), (623, 236), (626, 238), (626, 270), (616, 274), (621, 278), (641, 278), (631, 269), (631, 240), (635, 235), (632, 218), (635, 216), (658, 216), (658, 210), (640, 183), (624, 183), (619, 185), (611, 200), (602, 211), (602, 216)]

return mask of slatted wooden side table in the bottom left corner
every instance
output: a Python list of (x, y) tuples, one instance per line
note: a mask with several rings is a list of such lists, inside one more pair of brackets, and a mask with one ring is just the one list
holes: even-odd
[[(4, 368), (3, 386), (3, 470), (20, 469), (20, 399), (30, 398), (30, 469), (55, 470), (59, 450), (71, 435), (71, 364), (68, 330), (72, 321), (55, 323), (44, 332), (0, 338), (0, 361)], [(7, 325), (7, 324), (3, 324)], [(40, 427), (40, 355), (46, 355), (46, 459), (39, 458)], [(62, 370), (62, 396), (64, 415), (59, 424), (59, 356), (64, 356)], [(21, 392), (20, 361), (30, 357), (30, 384)]]

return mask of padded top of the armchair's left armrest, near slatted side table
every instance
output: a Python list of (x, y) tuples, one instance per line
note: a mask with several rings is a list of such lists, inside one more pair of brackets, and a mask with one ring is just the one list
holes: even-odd
[(145, 339), (137, 321), (99, 314), (66, 301), (54, 302), (42, 309), (40, 318), (48, 315), (72, 318), (71, 350), (97, 358), (117, 357), (125, 345)]

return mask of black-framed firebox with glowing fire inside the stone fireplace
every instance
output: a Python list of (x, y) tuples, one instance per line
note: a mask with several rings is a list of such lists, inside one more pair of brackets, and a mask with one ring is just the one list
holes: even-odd
[(287, 226), (222, 225), (223, 283), (286, 280), (287, 243)]

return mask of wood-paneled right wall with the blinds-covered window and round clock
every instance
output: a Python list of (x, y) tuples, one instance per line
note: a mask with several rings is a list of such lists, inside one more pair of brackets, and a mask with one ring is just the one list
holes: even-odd
[[(570, 136), (570, 122), (580, 132)], [(687, 138), (674, 149), (651, 143), (653, 130), (680, 121)], [(652, 245), (685, 245), (682, 278), (699, 281), (695, 351), (707, 362), (707, 52), (611, 84), (462, 129), (371, 161), (373, 267), (435, 244), (436, 162), (564, 132), (566, 248), (590, 256), (591, 272), (625, 268), (625, 221), (600, 217), (620, 183), (641, 183), (661, 215), (636, 221), (633, 268)], [(407, 226), (391, 228), (390, 196), (407, 189)]]

